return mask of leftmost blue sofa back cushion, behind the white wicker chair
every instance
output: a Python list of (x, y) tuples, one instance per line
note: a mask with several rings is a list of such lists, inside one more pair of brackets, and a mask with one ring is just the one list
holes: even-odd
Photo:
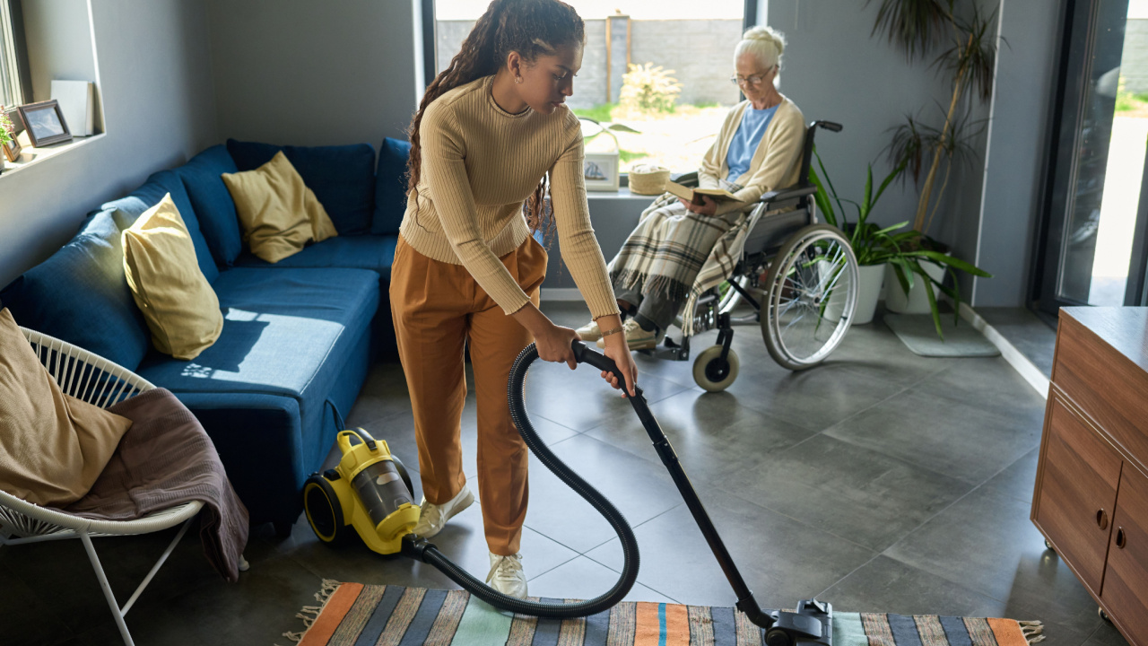
[(16, 323), (134, 370), (150, 333), (124, 278), (119, 233), (111, 213), (95, 213), (70, 243), (0, 291), (0, 301)]

